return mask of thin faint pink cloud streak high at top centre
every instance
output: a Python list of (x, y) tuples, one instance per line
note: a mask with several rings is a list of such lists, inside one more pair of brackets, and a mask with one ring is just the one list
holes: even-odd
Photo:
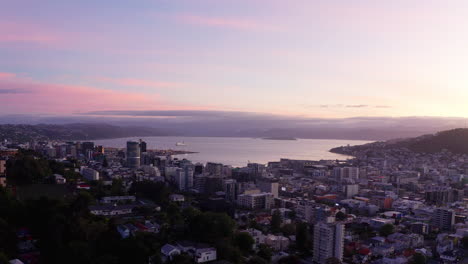
[(177, 19), (183, 23), (191, 25), (201, 25), (220, 28), (231, 28), (237, 30), (253, 30), (253, 31), (279, 31), (279, 27), (260, 23), (259, 21), (240, 18), (220, 18), (206, 17), (198, 15), (179, 15)]

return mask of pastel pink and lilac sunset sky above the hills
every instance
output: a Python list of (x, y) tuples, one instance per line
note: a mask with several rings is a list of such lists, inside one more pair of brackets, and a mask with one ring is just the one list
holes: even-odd
[(465, 0), (0, 0), (0, 113), (468, 117)]

